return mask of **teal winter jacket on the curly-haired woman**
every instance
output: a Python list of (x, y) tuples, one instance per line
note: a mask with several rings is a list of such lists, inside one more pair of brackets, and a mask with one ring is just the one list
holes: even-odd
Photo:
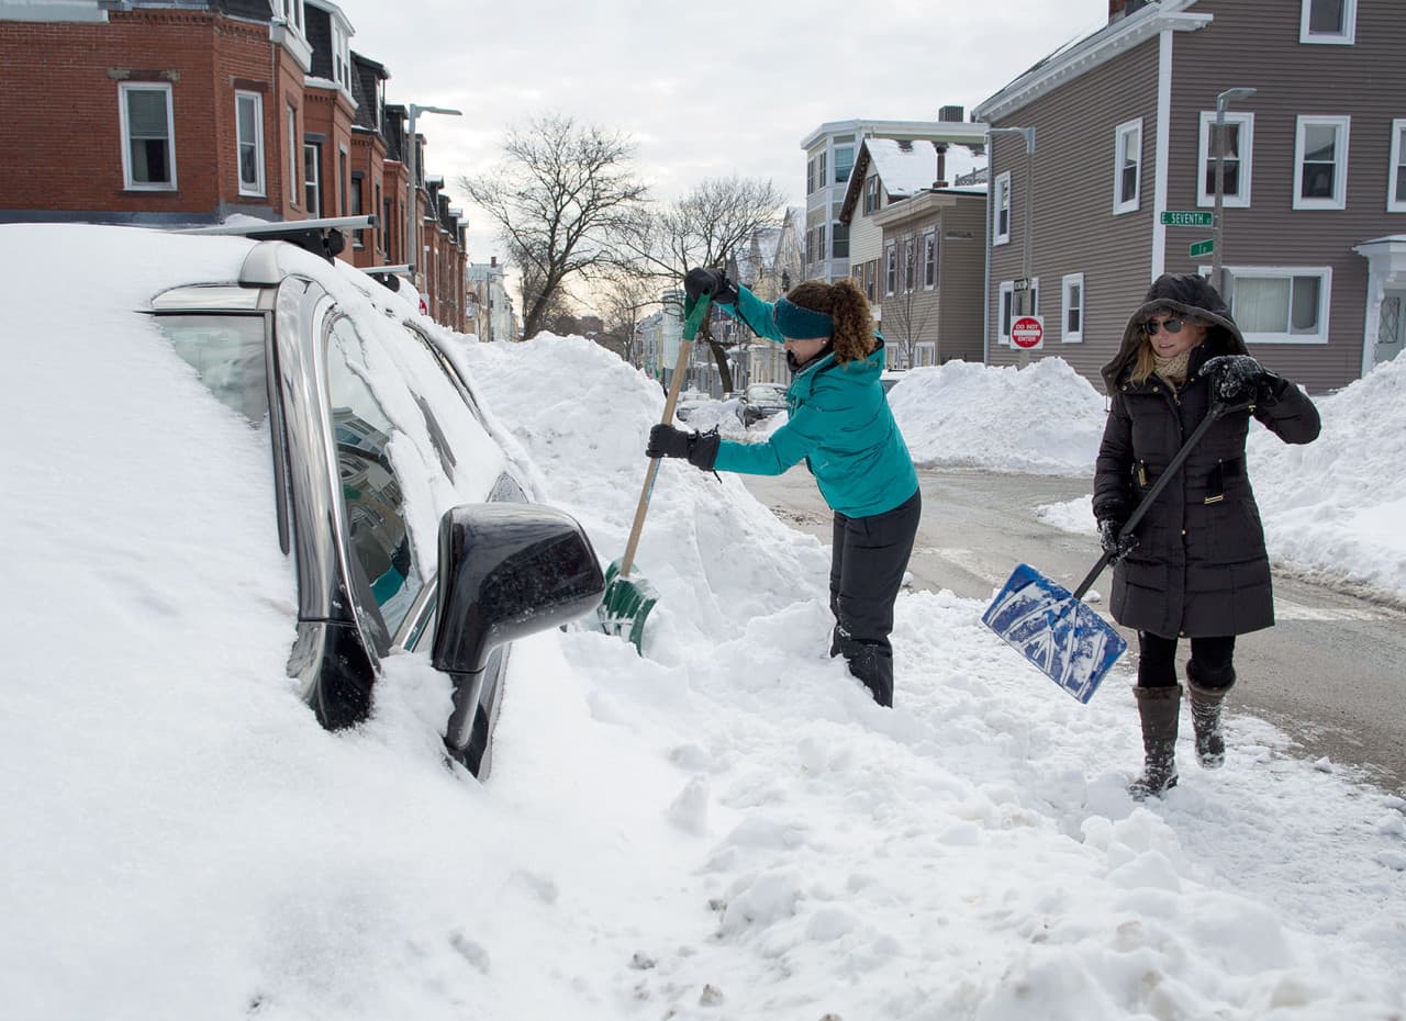
[[(770, 302), (745, 286), (737, 291), (737, 305), (723, 310), (759, 337), (785, 343)], [(893, 510), (917, 492), (918, 473), (879, 382), (883, 367), (883, 340), (868, 358), (846, 365), (834, 353), (811, 362), (786, 390), (789, 421), (765, 444), (724, 440), (713, 466), (780, 475), (804, 458), (831, 510), (855, 518)]]

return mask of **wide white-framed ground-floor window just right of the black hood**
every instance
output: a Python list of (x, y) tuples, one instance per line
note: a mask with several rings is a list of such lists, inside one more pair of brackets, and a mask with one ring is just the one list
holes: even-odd
[(1225, 267), (1230, 313), (1249, 343), (1326, 344), (1333, 271)]

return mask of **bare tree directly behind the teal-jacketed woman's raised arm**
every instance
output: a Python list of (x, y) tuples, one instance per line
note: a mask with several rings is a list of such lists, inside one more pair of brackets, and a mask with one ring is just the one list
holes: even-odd
[[(621, 253), (641, 274), (675, 286), (696, 265), (734, 267), (735, 272), (754, 235), (780, 223), (785, 204), (786, 197), (770, 181), (710, 178), (662, 211), (641, 209), (621, 242)], [(724, 331), (723, 338), (707, 337), (724, 392), (733, 389), (727, 348), (740, 337), (741, 329)]]

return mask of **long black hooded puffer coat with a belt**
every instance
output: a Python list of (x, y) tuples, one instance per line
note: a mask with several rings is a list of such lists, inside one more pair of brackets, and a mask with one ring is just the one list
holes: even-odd
[[(1157, 375), (1130, 379), (1146, 343), (1142, 324), (1167, 312), (1211, 324), (1180, 392)], [(1104, 367), (1112, 406), (1094, 476), (1097, 518), (1126, 521), (1206, 416), (1212, 393), (1201, 367), (1219, 354), (1247, 354), (1220, 295), (1201, 277), (1159, 277), (1129, 317), (1118, 357)], [(1268, 400), (1212, 426), (1137, 524), (1136, 549), (1114, 569), (1111, 610), (1119, 624), (1163, 638), (1243, 635), (1274, 624), (1264, 529), (1244, 463), (1251, 414), (1285, 442), (1319, 434), (1313, 402), (1279, 376), (1270, 379)]]

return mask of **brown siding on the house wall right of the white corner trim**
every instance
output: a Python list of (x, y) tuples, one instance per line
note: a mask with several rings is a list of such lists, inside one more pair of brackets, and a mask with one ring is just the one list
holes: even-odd
[[(1173, 63), (1168, 206), (1195, 209), (1201, 111), (1216, 93), (1257, 88), (1236, 104), (1254, 114), (1247, 209), (1223, 218), (1226, 265), (1330, 267), (1329, 343), (1254, 344), (1267, 365), (1319, 392), (1344, 386), (1362, 371), (1367, 329), (1365, 240), (1406, 232), (1406, 213), (1386, 212), (1391, 126), (1406, 117), (1406, 18), (1395, 0), (1360, 0), (1353, 45), (1299, 42), (1299, 4), (1284, 0), (1198, 3), (1215, 15), (1201, 32), (1175, 39)], [(1254, 46), (1244, 39), (1254, 38)], [(1302, 115), (1350, 115), (1346, 209), (1294, 209), (1295, 139)], [(1167, 270), (1197, 272), (1187, 243), (1209, 230), (1167, 229)]]

